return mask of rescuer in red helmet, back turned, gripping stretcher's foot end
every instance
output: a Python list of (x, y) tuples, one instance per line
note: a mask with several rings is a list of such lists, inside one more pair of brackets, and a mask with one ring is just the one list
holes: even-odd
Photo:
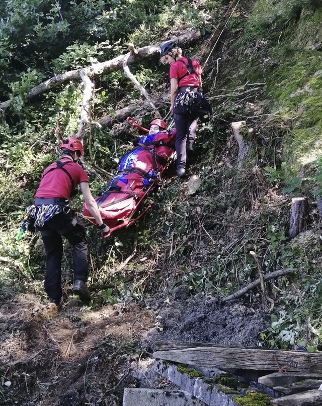
[(103, 235), (109, 232), (90, 191), (88, 175), (77, 163), (84, 155), (83, 144), (77, 138), (70, 137), (61, 143), (60, 150), (60, 160), (49, 165), (42, 174), (34, 196), (33, 216), (46, 250), (45, 291), (57, 306), (62, 296), (62, 236), (73, 247), (73, 293), (83, 301), (91, 300), (86, 286), (89, 273), (86, 228), (81, 218), (68, 206), (72, 191), (78, 184), (98, 228)]

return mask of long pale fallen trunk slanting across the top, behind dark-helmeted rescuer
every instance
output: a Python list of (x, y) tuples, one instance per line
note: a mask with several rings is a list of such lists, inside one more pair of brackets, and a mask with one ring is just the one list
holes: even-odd
[[(200, 31), (197, 30), (180, 35), (179, 37), (174, 38), (173, 41), (177, 41), (179, 46), (192, 45), (196, 43), (200, 37)], [(81, 79), (82, 70), (84, 70), (84, 73), (87, 76), (93, 77), (122, 69), (125, 61), (127, 65), (132, 65), (133, 63), (139, 62), (143, 59), (151, 59), (159, 54), (162, 44), (163, 42), (159, 42), (154, 45), (139, 48), (136, 50), (137, 53), (128, 52), (109, 61), (95, 63), (87, 68), (60, 73), (59, 75), (53, 76), (43, 83), (33, 87), (31, 90), (25, 93), (25, 97), (30, 99), (48, 91), (52, 87), (58, 86), (59, 84), (68, 82), (70, 80), (79, 80)], [(0, 103), (0, 110), (6, 110), (12, 104), (12, 102), (12, 99), (3, 101), (3, 103)]]

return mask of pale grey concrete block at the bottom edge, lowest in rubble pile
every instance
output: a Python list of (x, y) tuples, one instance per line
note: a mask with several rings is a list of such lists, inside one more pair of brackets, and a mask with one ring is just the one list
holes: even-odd
[(123, 406), (205, 406), (185, 390), (125, 388)]

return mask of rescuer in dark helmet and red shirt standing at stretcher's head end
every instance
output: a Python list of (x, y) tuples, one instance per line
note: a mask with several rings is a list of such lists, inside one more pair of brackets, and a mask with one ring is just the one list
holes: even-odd
[(161, 61), (170, 64), (171, 112), (177, 130), (177, 174), (186, 173), (187, 154), (194, 153), (197, 114), (194, 106), (201, 91), (202, 69), (196, 59), (182, 56), (182, 49), (174, 41), (161, 47)]

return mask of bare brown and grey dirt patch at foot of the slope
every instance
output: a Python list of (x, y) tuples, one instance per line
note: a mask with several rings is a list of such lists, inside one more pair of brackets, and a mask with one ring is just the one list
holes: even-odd
[[(59, 311), (33, 296), (1, 305), (0, 404), (119, 405), (131, 373), (156, 340), (256, 345), (266, 326), (261, 310), (176, 289), (166, 300), (83, 307), (72, 299)], [(149, 382), (164, 387), (164, 381)]]

